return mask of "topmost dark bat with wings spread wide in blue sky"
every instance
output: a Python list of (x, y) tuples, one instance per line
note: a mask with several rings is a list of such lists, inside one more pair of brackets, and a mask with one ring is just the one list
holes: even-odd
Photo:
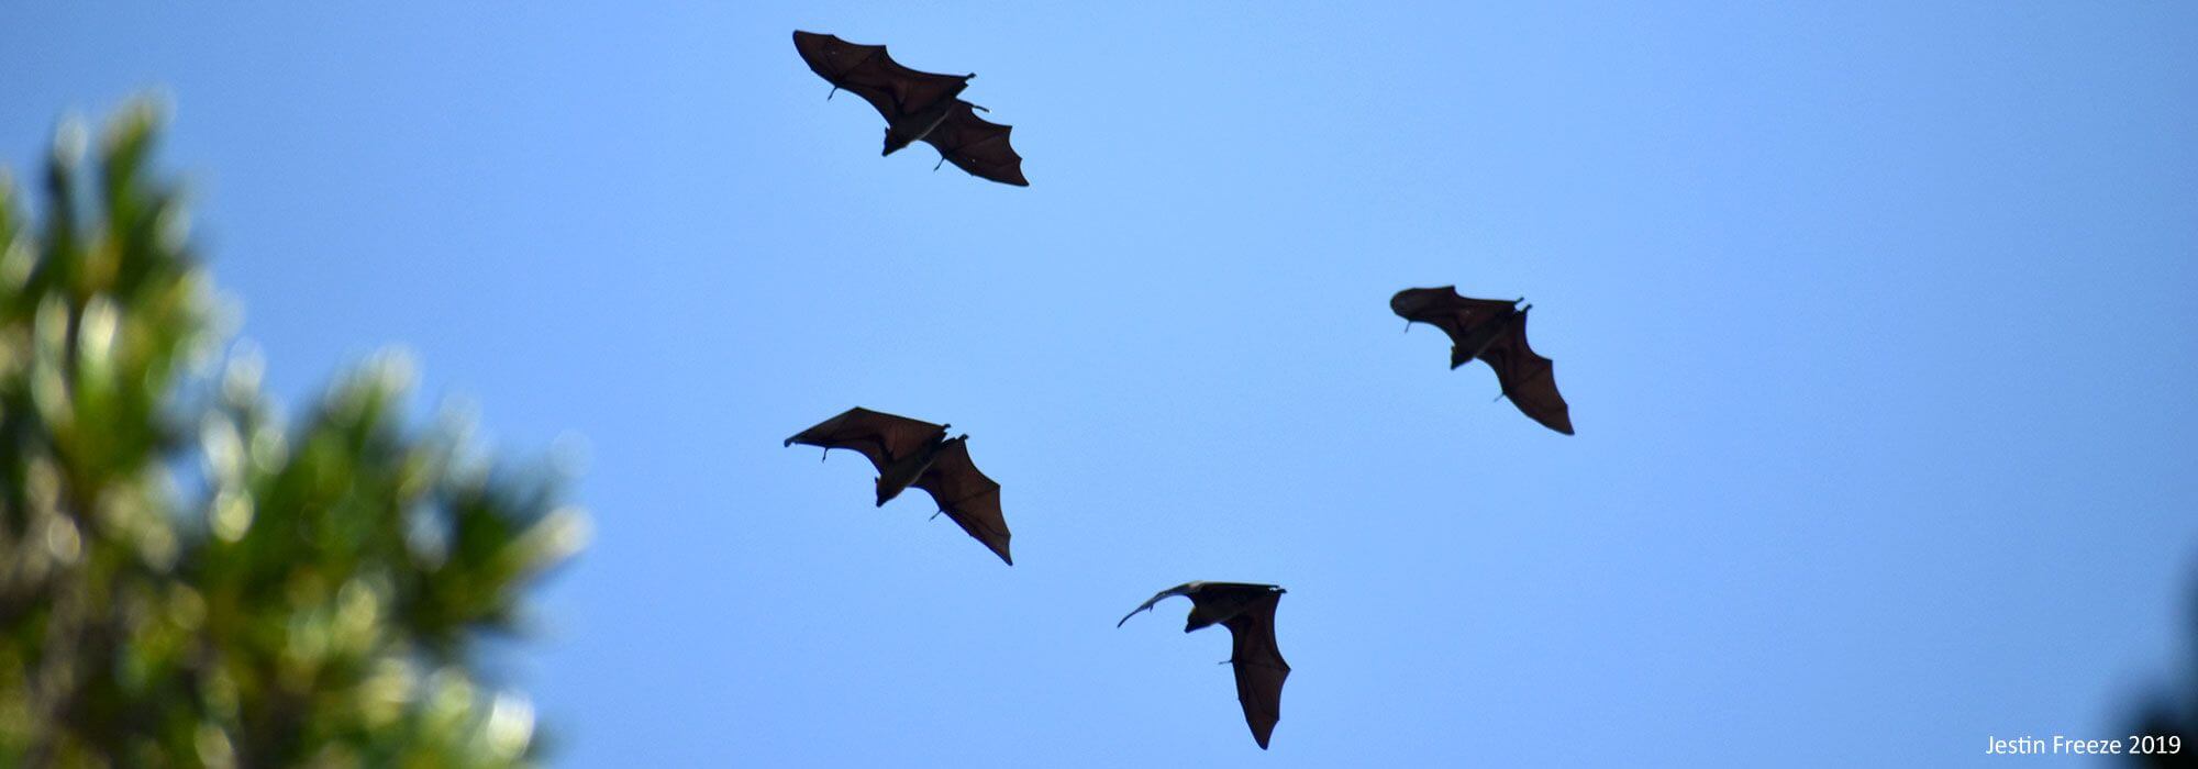
[(804, 31), (793, 31), (793, 51), (831, 83), (833, 94), (851, 90), (886, 116), (888, 156), (928, 141), (939, 147), (941, 163), (954, 163), (993, 182), (1031, 187), (1031, 180), (1022, 178), (1022, 156), (1007, 143), (1013, 127), (987, 123), (976, 116), (976, 110), (985, 108), (958, 99), (976, 73), (917, 73), (892, 62), (886, 46), (857, 46), (835, 35)]

